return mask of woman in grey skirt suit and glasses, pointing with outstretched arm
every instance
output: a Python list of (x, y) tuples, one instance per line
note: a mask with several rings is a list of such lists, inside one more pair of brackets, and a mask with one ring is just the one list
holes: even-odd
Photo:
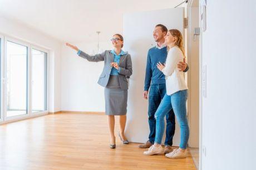
[(108, 117), (110, 130), (110, 147), (115, 148), (115, 117), (120, 116), (119, 137), (124, 144), (128, 144), (124, 135), (127, 112), (128, 81), (132, 74), (131, 55), (122, 50), (124, 38), (115, 34), (111, 38), (113, 50), (106, 50), (102, 54), (88, 55), (76, 46), (66, 43), (68, 47), (77, 51), (77, 54), (88, 61), (104, 61), (104, 68), (98, 84), (105, 87), (105, 112)]

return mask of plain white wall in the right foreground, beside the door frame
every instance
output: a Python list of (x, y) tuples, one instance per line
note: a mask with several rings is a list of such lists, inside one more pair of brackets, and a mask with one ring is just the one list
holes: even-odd
[(256, 1), (207, 1), (201, 168), (255, 169)]

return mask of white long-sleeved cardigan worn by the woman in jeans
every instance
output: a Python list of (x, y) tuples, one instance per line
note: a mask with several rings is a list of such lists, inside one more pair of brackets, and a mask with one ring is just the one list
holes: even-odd
[(177, 91), (188, 89), (183, 71), (179, 71), (178, 63), (183, 61), (184, 55), (179, 47), (175, 46), (168, 52), (165, 68), (162, 70), (166, 76), (166, 93), (172, 95)]

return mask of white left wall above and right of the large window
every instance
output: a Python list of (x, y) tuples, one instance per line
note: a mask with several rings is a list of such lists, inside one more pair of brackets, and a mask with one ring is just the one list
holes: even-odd
[(61, 45), (58, 40), (38, 30), (19, 23), (17, 20), (0, 16), (0, 34), (23, 40), (50, 50), (50, 96), (49, 111), (60, 111), (61, 105)]

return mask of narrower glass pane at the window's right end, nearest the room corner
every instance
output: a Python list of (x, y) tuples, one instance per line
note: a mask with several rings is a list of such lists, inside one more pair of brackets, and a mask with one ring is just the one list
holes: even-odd
[(47, 53), (32, 50), (32, 112), (45, 111), (47, 99)]

